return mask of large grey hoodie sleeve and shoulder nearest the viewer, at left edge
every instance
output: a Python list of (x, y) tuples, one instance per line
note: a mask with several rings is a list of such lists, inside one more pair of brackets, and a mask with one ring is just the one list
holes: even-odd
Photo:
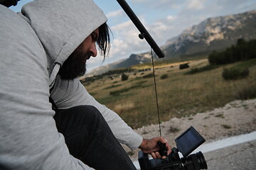
[(0, 16), (0, 169), (90, 169), (69, 154), (55, 127), (36, 33), (1, 5)]

